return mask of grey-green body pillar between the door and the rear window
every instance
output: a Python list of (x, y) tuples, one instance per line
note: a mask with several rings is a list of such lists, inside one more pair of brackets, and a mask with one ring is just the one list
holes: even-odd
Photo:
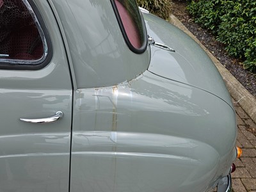
[(134, 79), (149, 65), (149, 50), (127, 47), (110, 1), (56, 1), (70, 49), (78, 88), (102, 87)]

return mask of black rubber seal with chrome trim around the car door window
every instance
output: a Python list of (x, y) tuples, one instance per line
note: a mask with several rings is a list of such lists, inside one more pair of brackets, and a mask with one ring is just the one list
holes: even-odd
[(5, 70), (39, 70), (47, 66), (52, 59), (52, 44), (44, 19), (33, 0), (20, 0), (31, 13), (31, 17), (35, 20), (36, 28), (40, 34), (40, 38), (44, 44), (44, 56), (39, 60), (8, 60), (0, 58), (0, 69)]

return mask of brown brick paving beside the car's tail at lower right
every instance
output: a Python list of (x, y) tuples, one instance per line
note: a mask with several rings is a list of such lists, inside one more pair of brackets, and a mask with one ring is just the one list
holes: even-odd
[(234, 192), (256, 192), (256, 137), (248, 131), (256, 129), (256, 124), (233, 99), (237, 118), (237, 146), (243, 149), (240, 159), (235, 161), (236, 172), (232, 173)]

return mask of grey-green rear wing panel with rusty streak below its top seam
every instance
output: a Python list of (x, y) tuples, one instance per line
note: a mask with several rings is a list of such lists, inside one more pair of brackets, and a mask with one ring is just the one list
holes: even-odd
[(146, 71), (74, 98), (71, 191), (205, 191), (228, 175), (235, 113), (211, 93)]

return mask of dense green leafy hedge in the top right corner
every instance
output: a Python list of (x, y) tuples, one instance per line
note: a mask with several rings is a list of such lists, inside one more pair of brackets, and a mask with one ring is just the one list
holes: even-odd
[(195, 22), (217, 35), (228, 53), (256, 71), (256, 1), (198, 0), (188, 6)]

